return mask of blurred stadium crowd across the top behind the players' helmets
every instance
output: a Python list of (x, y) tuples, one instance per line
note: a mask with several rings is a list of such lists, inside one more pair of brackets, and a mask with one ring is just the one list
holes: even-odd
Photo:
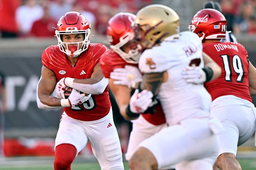
[[(234, 34), (256, 33), (256, 0), (216, 0)], [(52, 37), (58, 19), (68, 11), (83, 14), (93, 33), (105, 35), (110, 17), (117, 12), (136, 13), (153, 0), (0, 0), (2, 38)], [(159, 1), (159, 4), (161, 1)], [(193, 2), (192, 2), (193, 3)], [(195, 3), (195, 2), (194, 2)], [(134, 5), (136, 4), (136, 5)]]

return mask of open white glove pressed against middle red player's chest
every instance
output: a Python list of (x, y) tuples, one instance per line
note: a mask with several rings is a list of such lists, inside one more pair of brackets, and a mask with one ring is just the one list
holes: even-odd
[(126, 85), (129, 88), (137, 88), (137, 84), (142, 81), (142, 75), (139, 69), (131, 65), (114, 69), (110, 73), (110, 78), (115, 80), (115, 85)]

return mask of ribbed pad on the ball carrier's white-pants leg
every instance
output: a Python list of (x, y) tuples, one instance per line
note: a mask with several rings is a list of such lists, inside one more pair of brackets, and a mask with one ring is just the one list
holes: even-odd
[(108, 161), (115, 161), (122, 158), (122, 151), (117, 135), (109, 135), (103, 138), (100, 142), (103, 158), (105, 157)]

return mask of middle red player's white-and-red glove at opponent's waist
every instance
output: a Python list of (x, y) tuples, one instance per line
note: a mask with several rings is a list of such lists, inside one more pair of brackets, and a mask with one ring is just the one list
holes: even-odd
[(136, 89), (130, 99), (130, 110), (133, 113), (143, 113), (152, 103), (153, 93), (148, 90), (143, 90), (139, 93)]

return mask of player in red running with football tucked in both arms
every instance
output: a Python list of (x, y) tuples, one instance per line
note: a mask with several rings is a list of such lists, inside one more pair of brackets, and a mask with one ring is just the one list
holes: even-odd
[[(108, 48), (90, 43), (90, 31), (83, 15), (67, 12), (55, 31), (58, 45), (46, 48), (42, 55), (37, 105), (42, 109), (64, 107), (55, 140), (55, 170), (71, 169), (71, 163), (88, 140), (101, 169), (124, 169), (108, 96), (108, 79), (99, 64)], [(59, 98), (51, 96), (55, 86)], [(73, 90), (64, 99), (63, 93), (69, 87)]]

